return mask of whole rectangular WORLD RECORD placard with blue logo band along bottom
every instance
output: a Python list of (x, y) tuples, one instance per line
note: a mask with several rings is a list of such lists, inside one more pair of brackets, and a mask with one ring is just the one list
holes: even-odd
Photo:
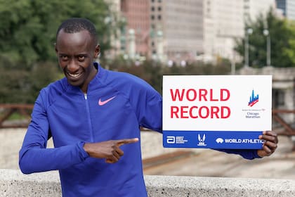
[(271, 106), (271, 75), (164, 76), (163, 145), (261, 148)]

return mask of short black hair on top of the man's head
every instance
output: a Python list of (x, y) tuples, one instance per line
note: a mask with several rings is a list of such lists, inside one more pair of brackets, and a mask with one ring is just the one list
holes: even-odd
[(93, 23), (91, 23), (90, 20), (86, 18), (69, 18), (63, 21), (63, 23), (60, 24), (60, 27), (58, 27), (58, 31), (56, 32), (56, 39), (58, 38), (58, 33), (60, 32), (60, 30), (63, 30), (64, 32), (69, 34), (86, 30), (91, 34), (91, 37), (93, 37), (94, 41), (96, 43), (98, 42), (96, 27), (93, 25)]

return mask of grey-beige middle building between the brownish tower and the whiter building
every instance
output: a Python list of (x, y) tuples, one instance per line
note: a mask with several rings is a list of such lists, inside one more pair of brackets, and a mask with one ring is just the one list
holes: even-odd
[(204, 53), (203, 0), (163, 1), (162, 31), (166, 61), (194, 61)]

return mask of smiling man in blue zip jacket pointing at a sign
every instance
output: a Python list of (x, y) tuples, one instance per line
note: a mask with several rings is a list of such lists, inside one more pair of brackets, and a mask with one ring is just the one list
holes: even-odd
[[(65, 77), (40, 91), (20, 170), (59, 170), (63, 196), (147, 196), (140, 127), (162, 132), (162, 96), (138, 77), (94, 62), (100, 46), (89, 20), (65, 20), (55, 51)], [(46, 148), (51, 136), (55, 148)], [(247, 159), (271, 155), (277, 135), (264, 132), (259, 138), (265, 140), (261, 150), (220, 151)]]

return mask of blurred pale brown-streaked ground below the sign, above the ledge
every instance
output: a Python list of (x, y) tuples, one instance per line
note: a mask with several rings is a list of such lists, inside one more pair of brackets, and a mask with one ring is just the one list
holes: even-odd
[(197, 153), (184, 149), (144, 160), (143, 166), (147, 175), (295, 179), (295, 151), (290, 137), (279, 136), (275, 153), (261, 159), (245, 160), (210, 149)]

